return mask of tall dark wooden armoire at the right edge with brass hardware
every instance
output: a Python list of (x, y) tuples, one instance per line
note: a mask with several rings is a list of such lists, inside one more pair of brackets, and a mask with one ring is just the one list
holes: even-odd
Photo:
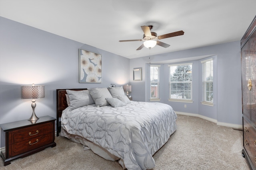
[(256, 169), (256, 16), (241, 39), (243, 156)]

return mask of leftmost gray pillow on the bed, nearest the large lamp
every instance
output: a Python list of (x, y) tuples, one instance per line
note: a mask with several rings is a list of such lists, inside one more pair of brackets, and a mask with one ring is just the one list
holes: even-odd
[(94, 104), (94, 101), (92, 100), (92, 97), (90, 96), (88, 90), (66, 90), (66, 92), (68, 93), (68, 97), (70, 100), (70, 110)]

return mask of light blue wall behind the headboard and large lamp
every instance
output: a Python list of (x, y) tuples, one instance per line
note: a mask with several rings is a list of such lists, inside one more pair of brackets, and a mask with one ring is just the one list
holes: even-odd
[[(78, 82), (78, 49), (102, 55), (102, 83)], [(56, 117), (56, 89), (129, 84), (129, 59), (0, 17), (0, 124), (28, 119), (20, 86), (45, 85), (36, 115)], [(0, 135), (1, 136), (1, 135)]]

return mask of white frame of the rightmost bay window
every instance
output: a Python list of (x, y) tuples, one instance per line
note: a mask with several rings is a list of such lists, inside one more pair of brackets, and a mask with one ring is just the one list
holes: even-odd
[[(207, 106), (213, 106), (213, 58), (201, 61), (202, 64), (202, 102), (201, 104)], [(209, 78), (210, 80), (207, 80)], [(209, 91), (207, 92), (207, 85), (211, 84)], [(212, 87), (212, 88), (211, 88)], [(211, 94), (212, 101), (207, 100), (207, 94)], [(208, 95), (209, 96), (209, 95)]]

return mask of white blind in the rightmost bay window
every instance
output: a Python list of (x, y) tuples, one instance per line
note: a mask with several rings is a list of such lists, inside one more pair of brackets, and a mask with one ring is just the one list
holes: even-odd
[(213, 102), (213, 59), (202, 63), (202, 102)]

